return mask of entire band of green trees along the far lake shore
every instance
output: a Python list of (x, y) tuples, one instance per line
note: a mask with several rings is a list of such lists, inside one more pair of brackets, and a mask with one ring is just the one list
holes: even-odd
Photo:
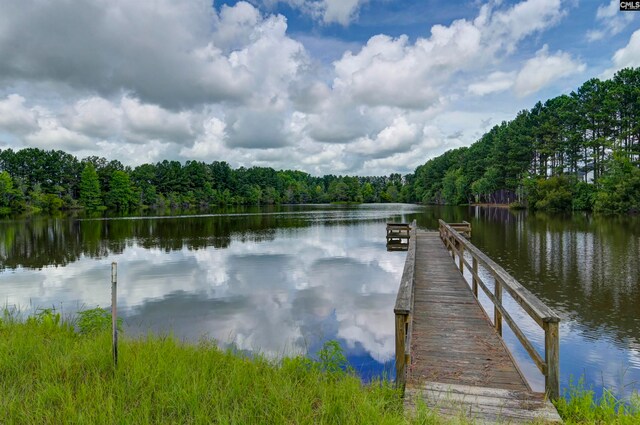
[(220, 205), (407, 202), (640, 212), (640, 68), (537, 102), (469, 147), (413, 173), (312, 176), (224, 161), (134, 168), (63, 151), (0, 150), (0, 215), (84, 209), (135, 213)]

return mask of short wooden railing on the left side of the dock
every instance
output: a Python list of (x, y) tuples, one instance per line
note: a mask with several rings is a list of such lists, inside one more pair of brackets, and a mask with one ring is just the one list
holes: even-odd
[(413, 288), (416, 268), (416, 221), (410, 225), (409, 247), (400, 288), (393, 309), (396, 316), (396, 386), (404, 389), (407, 366), (411, 363), (411, 331), (413, 327)]

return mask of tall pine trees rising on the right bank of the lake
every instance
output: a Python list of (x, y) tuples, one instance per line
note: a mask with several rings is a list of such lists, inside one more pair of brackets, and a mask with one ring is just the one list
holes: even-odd
[(640, 211), (640, 68), (538, 102), (419, 166), (410, 198), (541, 210)]

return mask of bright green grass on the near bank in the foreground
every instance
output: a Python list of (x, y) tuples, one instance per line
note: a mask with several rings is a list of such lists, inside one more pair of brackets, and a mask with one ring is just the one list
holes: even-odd
[[(173, 335), (122, 338), (111, 357), (111, 318), (102, 309), (62, 319), (41, 310), (21, 320), (0, 316), (0, 422), (42, 423), (473, 423), (419, 405), (402, 410), (389, 380), (363, 384), (340, 346), (318, 359), (277, 361), (223, 351), (214, 341), (189, 344)], [(640, 397), (601, 399), (582, 382), (556, 403), (566, 423), (635, 424)]]

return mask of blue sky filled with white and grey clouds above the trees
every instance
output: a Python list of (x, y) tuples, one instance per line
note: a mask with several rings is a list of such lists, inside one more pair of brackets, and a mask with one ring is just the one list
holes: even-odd
[(619, 0), (0, 0), (0, 149), (410, 173), (640, 66)]

